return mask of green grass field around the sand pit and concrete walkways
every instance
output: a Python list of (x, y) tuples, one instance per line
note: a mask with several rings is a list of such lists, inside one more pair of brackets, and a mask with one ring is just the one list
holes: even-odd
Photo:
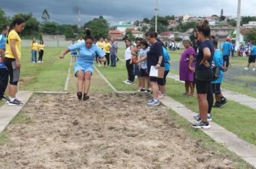
[[(30, 53), (28, 48), (22, 48), (22, 73), (20, 90), (33, 90), (33, 91), (63, 91), (65, 86), (65, 79), (68, 74), (68, 67), (70, 64), (70, 54), (66, 55), (65, 59), (59, 59), (59, 54), (64, 48), (46, 48), (44, 63), (32, 64), (30, 62)], [(178, 61), (180, 52), (171, 52), (173, 61)], [(118, 56), (123, 58), (124, 49), (119, 49)], [(102, 74), (109, 80), (109, 82), (118, 91), (137, 91), (137, 82), (134, 85), (124, 84), (122, 81), (127, 79), (127, 71), (124, 62), (117, 62), (117, 67), (104, 67), (95, 66), (101, 71)], [(178, 74), (178, 70), (171, 70), (171, 73)], [(183, 97), (184, 87), (180, 82), (168, 79), (167, 82), (167, 95), (173, 99), (186, 105), (189, 109), (198, 112), (196, 97)], [(231, 88), (230, 88), (231, 89)], [(231, 90), (237, 90), (232, 87)], [(76, 77), (73, 76), (73, 69), (70, 74), (70, 84), (68, 92), (76, 92)], [(111, 87), (94, 71), (90, 93), (108, 93), (113, 92)], [(256, 128), (254, 123), (256, 120), (256, 111), (248, 107), (244, 107), (237, 102), (229, 102), (224, 108), (212, 111), (214, 122), (225, 127), (227, 130), (234, 132), (239, 137), (247, 140), (249, 143), (256, 145)], [(201, 142), (204, 148), (209, 150), (216, 150), (219, 155), (231, 156), (232, 159), (239, 161), (238, 168), (248, 168), (241, 158), (234, 155), (234, 153), (227, 150), (223, 145), (214, 142), (209, 136), (205, 135), (200, 130), (193, 130), (191, 124), (170, 110), (170, 115), (177, 125), (183, 127), (184, 130), (196, 140)], [(25, 119), (22, 113), (18, 115), (12, 122), (23, 122)], [(0, 133), (0, 145), (8, 142), (6, 133)]]

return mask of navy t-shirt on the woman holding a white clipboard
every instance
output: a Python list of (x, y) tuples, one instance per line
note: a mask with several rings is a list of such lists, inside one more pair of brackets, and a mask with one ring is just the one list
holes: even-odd
[[(147, 52), (147, 70), (150, 72), (151, 66), (156, 66), (158, 63), (159, 57), (163, 57), (163, 47), (161, 42), (155, 42), (150, 46), (150, 51)], [(163, 67), (163, 61), (161, 63), (161, 67)]]

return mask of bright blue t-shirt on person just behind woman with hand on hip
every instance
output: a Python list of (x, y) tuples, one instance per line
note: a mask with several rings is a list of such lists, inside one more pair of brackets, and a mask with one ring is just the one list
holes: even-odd
[(220, 77), (219, 77), (219, 79), (216, 79), (215, 81), (212, 81), (211, 83), (221, 83), (222, 79), (223, 79), (223, 76), (224, 76), (224, 72), (221, 69), (221, 67), (223, 65), (222, 52), (219, 49), (216, 49), (215, 52), (214, 52), (213, 62), (216, 65), (216, 67), (219, 67)]

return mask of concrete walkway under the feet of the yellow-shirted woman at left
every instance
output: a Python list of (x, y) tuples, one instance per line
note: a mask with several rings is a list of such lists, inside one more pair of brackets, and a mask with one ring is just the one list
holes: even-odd
[(0, 133), (4, 131), (7, 125), (12, 121), (12, 119), (22, 110), (22, 107), (26, 105), (26, 102), (32, 96), (33, 92), (19, 92), (18, 95), (22, 102), (22, 106), (9, 106), (7, 104), (0, 107)]

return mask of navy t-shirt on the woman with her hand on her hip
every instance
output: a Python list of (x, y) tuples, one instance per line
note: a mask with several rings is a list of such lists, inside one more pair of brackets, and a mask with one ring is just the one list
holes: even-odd
[(206, 67), (204, 64), (200, 64), (202, 60), (204, 59), (204, 52), (203, 49), (205, 47), (208, 47), (211, 52), (211, 57), (207, 59), (207, 61), (211, 64), (212, 59), (214, 58), (214, 45), (210, 40), (206, 40), (204, 42), (201, 42), (198, 46), (198, 55), (196, 57), (196, 69), (212, 69), (211, 67)]

